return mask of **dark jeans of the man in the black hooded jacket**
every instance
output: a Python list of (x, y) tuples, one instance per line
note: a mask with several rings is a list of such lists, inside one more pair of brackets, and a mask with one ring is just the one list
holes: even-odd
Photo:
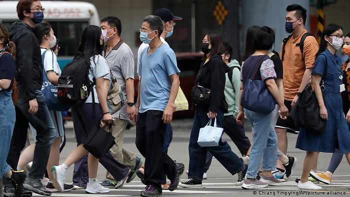
[(7, 156), (7, 163), (15, 169), (17, 167), (20, 151), (24, 148), (28, 130), (28, 122), (35, 128), (36, 145), (34, 149), (33, 164), (28, 177), (33, 179), (42, 178), (46, 170), (48, 155), (51, 144), (56, 137), (56, 130), (53, 126), (51, 116), (45, 103), (45, 97), (40, 90), (35, 90), (38, 109), (35, 114), (28, 112), (29, 101), (21, 93), (23, 88), (17, 86), (19, 99), (15, 106), (16, 121), (14, 124), (10, 150)]

